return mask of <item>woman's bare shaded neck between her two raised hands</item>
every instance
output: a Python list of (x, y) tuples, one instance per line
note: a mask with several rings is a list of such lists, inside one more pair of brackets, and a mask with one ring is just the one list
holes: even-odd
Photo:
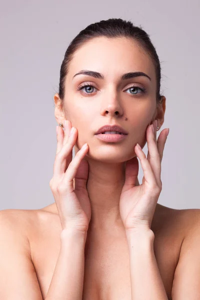
[[(123, 228), (119, 198), (125, 180), (125, 162), (107, 163), (86, 157), (89, 164), (87, 192), (91, 205), (89, 229)], [(136, 185), (139, 185), (137, 180)]]

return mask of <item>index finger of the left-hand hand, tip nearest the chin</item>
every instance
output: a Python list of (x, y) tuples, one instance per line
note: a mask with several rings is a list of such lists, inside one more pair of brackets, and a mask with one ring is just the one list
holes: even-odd
[[(73, 191), (73, 178), (76, 177), (76, 179), (79, 178), (80, 172), (78, 173), (78, 176), (76, 175), (78, 167), (80, 165), (80, 162), (82, 161), (83, 157), (88, 151), (88, 145), (87, 143), (83, 144), (80, 150), (76, 153), (75, 157), (71, 160), (69, 163), (67, 170), (64, 174), (63, 181), (64, 186), (67, 188), (68, 192)], [(84, 170), (82, 171), (83, 179), (86, 180), (85, 177), (86, 172)], [(83, 182), (82, 182), (83, 184)], [(76, 186), (77, 188), (77, 186)]]

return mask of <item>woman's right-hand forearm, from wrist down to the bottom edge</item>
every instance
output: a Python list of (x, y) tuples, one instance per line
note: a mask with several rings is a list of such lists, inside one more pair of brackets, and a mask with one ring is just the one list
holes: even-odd
[(152, 230), (126, 231), (130, 258), (132, 300), (167, 300), (153, 250)]

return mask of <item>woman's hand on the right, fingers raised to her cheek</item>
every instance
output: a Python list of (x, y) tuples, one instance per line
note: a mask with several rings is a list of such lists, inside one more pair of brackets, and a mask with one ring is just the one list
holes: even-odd
[(156, 122), (149, 125), (146, 130), (148, 145), (147, 158), (139, 146), (135, 145), (134, 151), (140, 160), (144, 176), (140, 185), (135, 185), (138, 175), (137, 157), (126, 162), (125, 181), (119, 200), (119, 211), (125, 229), (149, 231), (156, 203), (161, 192), (162, 182), (160, 179), (161, 160), (167, 129), (163, 129), (156, 140)]

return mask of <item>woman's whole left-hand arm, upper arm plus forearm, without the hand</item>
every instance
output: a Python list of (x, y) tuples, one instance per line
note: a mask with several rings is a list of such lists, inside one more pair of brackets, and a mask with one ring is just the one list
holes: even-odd
[(23, 215), (19, 213), (0, 210), (0, 299), (81, 300), (86, 233), (61, 232), (57, 263), (47, 295), (42, 298), (25, 225), (19, 221)]

